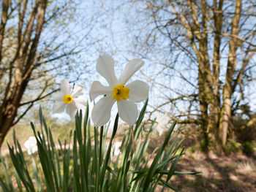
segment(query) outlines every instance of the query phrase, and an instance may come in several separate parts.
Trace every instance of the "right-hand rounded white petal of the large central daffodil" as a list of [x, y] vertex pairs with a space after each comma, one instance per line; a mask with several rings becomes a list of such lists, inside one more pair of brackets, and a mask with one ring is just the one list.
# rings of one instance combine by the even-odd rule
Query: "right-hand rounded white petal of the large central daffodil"
[[135, 80], [126, 87], [129, 88], [130, 101], [140, 102], [148, 98], [149, 86], [146, 82]]

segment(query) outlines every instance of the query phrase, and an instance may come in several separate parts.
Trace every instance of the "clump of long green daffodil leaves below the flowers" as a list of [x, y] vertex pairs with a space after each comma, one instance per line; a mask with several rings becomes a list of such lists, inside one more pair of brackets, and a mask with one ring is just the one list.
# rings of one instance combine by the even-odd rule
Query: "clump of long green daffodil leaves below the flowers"
[[[147, 104], [147, 101], [146, 101]], [[121, 154], [117, 158], [110, 158], [113, 139], [118, 128], [118, 114], [113, 126], [113, 134], [107, 146], [107, 126], [94, 127], [94, 136], [91, 136], [89, 107], [82, 118], [82, 112], [75, 118], [75, 131], [69, 139], [72, 145], [67, 144], [58, 151], [53, 141], [53, 135], [48, 128], [42, 110], [39, 109], [41, 133], [36, 133], [34, 124], [31, 128], [37, 137], [37, 147], [40, 164], [32, 158], [33, 176], [29, 173], [29, 164], [25, 161], [20, 144], [13, 134], [15, 146], [9, 145], [12, 164], [15, 167], [15, 180], [18, 191], [154, 191], [158, 185], [165, 188], [174, 188], [168, 182], [174, 175], [198, 174], [197, 172], [176, 172], [176, 166], [184, 148], [178, 142], [178, 133], [173, 133], [176, 121], [173, 122], [162, 146], [155, 149], [151, 155], [146, 155], [151, 129], [143, 130], [143, 116], [146, 104], [140, 112], [135, 126], [124, 134]], [[42, 135], [41, 135], [42, 134]], [[48, 144], [46, 144], [48, 142]], [[60, 141], [59, 144], [61, 145]], [[168, 146], [167, 146], [168, 145]], [[0, 155], [1, 157], [1, 155]], [[150, 158], [154, 158], [149, 163]], [[17, 190], [7, 172], [7, 166], [1, 157], [5, 179], [0, 178], [2, 191]], [[43, 177], [39, 177], [39, 172]], [[35, 182], [34, 182], [35, 181]]]

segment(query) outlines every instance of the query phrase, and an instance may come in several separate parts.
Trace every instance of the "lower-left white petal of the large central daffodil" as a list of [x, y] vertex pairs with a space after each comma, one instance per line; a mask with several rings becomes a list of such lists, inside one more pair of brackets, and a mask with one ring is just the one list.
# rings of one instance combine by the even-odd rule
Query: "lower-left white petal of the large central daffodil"
[[108, 123], [111, 116], [111, 109], [116, 100], [112, 99], [112, 96], [105, 96], [99, 99], [97, 104], [91, 111], [91, 120], [94, 122], [95, 126], [104, 126]]

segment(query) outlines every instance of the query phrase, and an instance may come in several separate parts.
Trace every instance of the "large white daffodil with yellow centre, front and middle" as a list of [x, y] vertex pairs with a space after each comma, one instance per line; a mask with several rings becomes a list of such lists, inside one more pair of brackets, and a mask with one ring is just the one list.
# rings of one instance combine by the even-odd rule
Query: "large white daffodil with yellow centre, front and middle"
[[91, 120], [95, 126], [103, 126], [110, 120], [111, 109], [117, 101], [118, 114], [124, 122], [130, 126], [134, 124], [138, 117], [138, 109], [135, 102], [140, 102], [148, 97], [148, 84], [135, 80], [126, 85], [130, 77], [138, 72], [144, 61], [135, 58], [125, 66], [124, 72], [119, 80], [114, 72], [114, 61], [108, 55], [99, 56], [96, 70], [107, 81], [109, 86], [102, 85], [99, 81], [94, 81], [90, 89], [90, 99], [93, 101], [99, 95], [104, 95], [91, 112]]

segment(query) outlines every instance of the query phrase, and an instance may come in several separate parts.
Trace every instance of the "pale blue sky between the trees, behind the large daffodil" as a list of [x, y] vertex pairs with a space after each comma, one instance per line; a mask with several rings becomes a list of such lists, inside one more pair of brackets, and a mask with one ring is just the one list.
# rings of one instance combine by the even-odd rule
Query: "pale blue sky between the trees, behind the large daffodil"
[[[174, 91], [184, 91], [185, 88], [187, 89], [188, 93], [193, 92], [192, 87], [189, 87], [189, 85], [182, 82], [178, 74], [174, 73], [171, 79], [165, 78], [165, 73], [168, 73], [168, 71], [162, 71], [162, 67], [160, 67], [160, 65], [156, 65], [161, 63], [167, 64], [170, 62], [168, 59], [172, 59], [170, 58], [171, 56], [167, 56], [169, 53], [168, 41], [164, 41], [164, 44], [159, 45], [162, 46], [162, 49], [158, 49], [158, 45], [151, 47], [152, 52], [147, 53], [146, 56], [143, 54], [140, 55], [140, 48], [142, 51], [141, 53], [143, 53], [143, 47], [136, 47], [133, 49], [136, 41], [135, 33], [138, 33], [139, 31], [143, 34], [145, 33], [144, 29], [148, 27], [146, 22], [148, 15], [143, 12], [144, 8], [144, 4], [140, 4], [140, 6], [138, 6], [138, 4], [132, 4], [127, 1], [96, 0], [83, 1], [83, 3], [77, 7], [77, 12], [75, 14], [76, 22], [75, 24], [69, 24], [69, 28], [72, 29], [72, 31], [75, 31], [75, 37], [78, 39], [83, 37], [83, 35], [88, 32], [88, 28], [93, 26], [89, 36], [86, 37], [86, 39], [83, 39], [83, 42], [80, 42], [82, 47], [86, 47], [86, 45], [90, 42], [94, 42], [94, 45], [91, 45], [88, 47], [88, 49], [84, 50], [80, 54], [80, 65], [89, 65], [86, 67], [86, 69], [84, 69], [84, 74], [80, 77], [80, 80], [78, 80], [78, 83], [84, 85], [86, 88], [86, 99], [89, 100], [89, 87], [91, 82], [94, 80], [100, 80], [101, 82], [105, 83], [105, 85], [107, 85], [105, 80], [95, 71], [97, 58], [99, 55], [105, 54], [113, 55], [113, 58], [116, 61], [117, 77], [119, 77], [121, 74], [127, 61], [131, 60], [132, 58], [143, 58], [143, 60], [146, 62], [145, 66], [143, 66], [141, 69], [143, 73], [138, 72], [138, 74], [133, 77], [133, 80], [150, 80], [151, 78], [154, 78], [156, 82], [173, 88]], [[88, 20], [91, 20], [91, 23], [89, 23]], [[144, 36], [141, 35], [140, 37], [143, 38]], [[151, 59], [149, 60], [147, 58]], [[187, 61], [184, 61], [183, 58], [180, 58], [180, 60], [177, 62], [183, 63]], [[223, 59], [222, 62], [225, 64], [225, 59]], [[181, 69], [182, 67], [184, 66], [179, 65], [177, 69]], [[195, 78], [196, 71], [194, 69], [193, 66], [191, 66], [190, 69], [185, 67], [183, 74]], [[60, 82], [62, 78], [63, 77], [57, 77], [56, 82]], [[67, 78], [69, 80], [73, 80], [75, 78], [75, 74], [70, 74]], [[148, 84], [152, 83], [153, 82], [148, 82]], [[245, 90], [245, 93], [249, 95], [248, 102], [254, 111], [256, 111], [255, 87], [256, 82], [254, 81]], [[165, 97], [175, 96], [177, 95], [173, 91], [163, 91], [162, 87], [154, 84], [154, 88], [151, 88], [149, 102], [151, 104], [157, 105], [162, 101], [165, 101]], [[90, 105], [92, 105], [92, 103]], [[178, 107], [185, 109], [187, 108], [187, 103], [180, 102]], [[171, 109], [170, 106], [167, 106], [165, 107], [165, 110], [170, 111], [173, 109]], [[113, 116], [116, 114], [116, 109], [113, 110], [112, 114]], [[64, 114], [57, 116], [61, 118], [68, 117]]]

